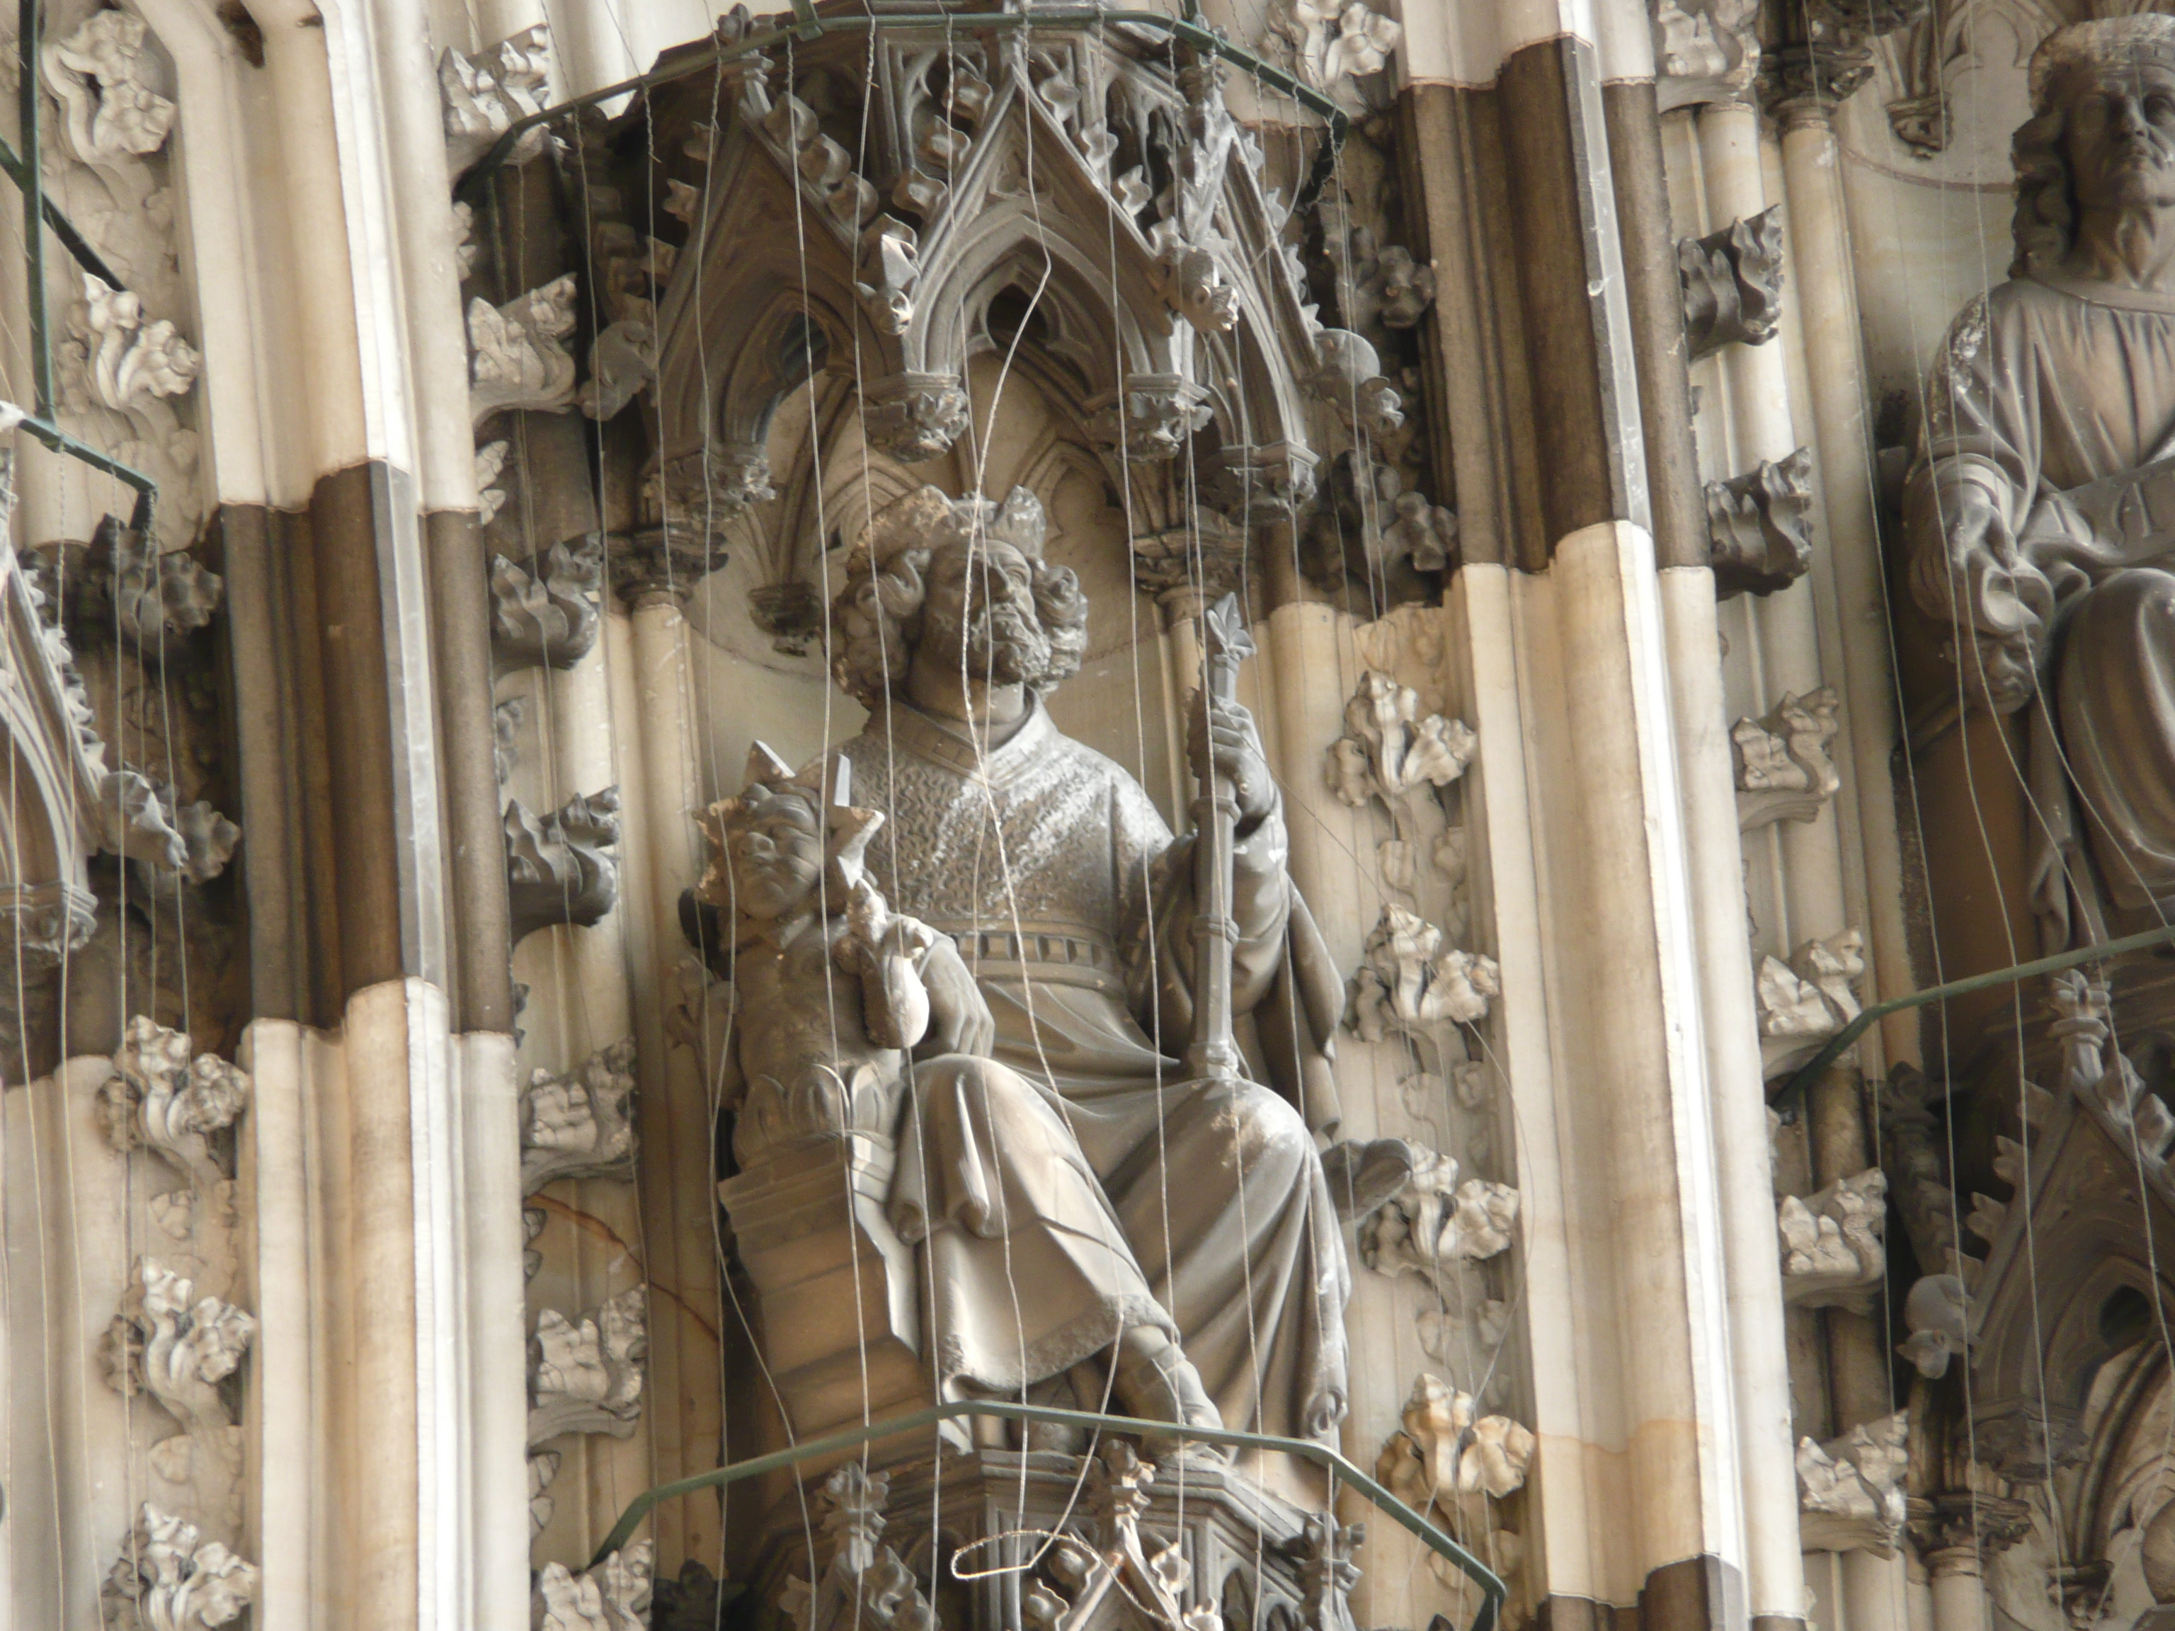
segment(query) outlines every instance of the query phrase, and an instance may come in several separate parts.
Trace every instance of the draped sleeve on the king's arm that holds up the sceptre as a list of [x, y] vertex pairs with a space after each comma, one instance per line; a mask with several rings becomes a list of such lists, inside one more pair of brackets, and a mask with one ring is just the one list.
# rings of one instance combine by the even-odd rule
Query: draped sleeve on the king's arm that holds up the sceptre
[[[1179, 1055], [1194, 1031], [1194, 839], [1172, 839], [1146, 794], [1111, 794], [1111, 833], [1124, 902], [1127, 989], [1142, 1029]], [[1290, 874], [1283, 816], [1233, 844], [1231, 1009], [1253, 1013], [1268, 1085], [1318, 1133], [1342, 1120], [1335, 1026], [1344, 987], [1314, 913]]]

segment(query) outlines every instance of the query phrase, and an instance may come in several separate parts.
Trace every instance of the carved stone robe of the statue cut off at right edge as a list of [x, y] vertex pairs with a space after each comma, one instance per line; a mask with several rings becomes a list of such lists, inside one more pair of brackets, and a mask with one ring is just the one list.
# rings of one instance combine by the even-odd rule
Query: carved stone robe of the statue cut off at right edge
[[[1940, 522], [1964, 485], [1992, 496], [2014, 561], [1947, 561]], [[2175, 296], [2047, 276], [1964, 307], [1907, 518], [1918, 596], [1942, 613], [1953, 596], [1960, 661], [1977, 661], [1977, 628], [1981, 650], [2008, 637], [2036, 668], [2031, 898], [2049, 946], [2103, 937], [2103, 898], [2175, 898]]]

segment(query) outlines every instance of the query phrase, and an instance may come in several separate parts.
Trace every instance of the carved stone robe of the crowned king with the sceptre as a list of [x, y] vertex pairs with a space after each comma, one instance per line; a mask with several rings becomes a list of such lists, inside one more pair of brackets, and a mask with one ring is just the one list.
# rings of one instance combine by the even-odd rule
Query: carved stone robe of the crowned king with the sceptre
[[1281, 820], [1238, 846], [1233, 900], [1235, 1005], [1281, 1092], [1198, 1083], [1151, 1042], [1192, 1024], [1190, 839], [1124, 770], [1040, 702], [985, 765], [903, 702], [840, 752], [890, 818], [879, 887], [955, 937], [996, 1018], [998, 1066], [918, 1063], [900, 1129], [892, 1213], [922, 1240], [946, 1385], [1014, 1392], [1148, 1318], [1227, 1424], [1327, 1433], [1351, 1279], [1309, 1124], [1335, 1124], [1342, 989]]

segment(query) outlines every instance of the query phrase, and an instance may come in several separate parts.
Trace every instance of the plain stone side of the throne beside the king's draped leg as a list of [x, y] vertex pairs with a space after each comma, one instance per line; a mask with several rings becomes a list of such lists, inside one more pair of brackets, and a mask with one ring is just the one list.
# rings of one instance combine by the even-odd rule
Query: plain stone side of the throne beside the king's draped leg
[[796, 1440], [935, 1403], [913, 1248], [883, 1211], [896, 1166], [890, 1137], [840, 1133], [781, 1144], [718, 1185]]

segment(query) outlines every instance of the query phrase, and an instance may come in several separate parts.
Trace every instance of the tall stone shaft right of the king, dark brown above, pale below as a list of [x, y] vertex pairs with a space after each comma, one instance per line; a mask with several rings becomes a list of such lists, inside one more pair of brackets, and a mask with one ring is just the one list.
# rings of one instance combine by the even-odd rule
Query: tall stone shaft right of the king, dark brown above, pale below
[[[1618, 9], [1601, 33], [1620, 52], [1646, 26], [1636, 7]], [[1527, 1590], [1546, 1598], [1551, 1622], [1583, 1611], [1577, 1598], [1636, 1596], [1653, 1624], [1705, 1627], [1742, 1616], [1744, 1568], [1699, 968], [1701, 931], [1718, 933], [1718, 885], [1694, 881], [1679, 802], [1703, 779], [1699, 837], [1707, 855], [1733, 852], [1712, 587], [1690, 491], [1653, 94], [1636, 87], [1651, 63], [1618, 63], [1607, 76], [1620, 83], [1605, 89], [1603, 50], [1542, 28], [1540, 11], [1553, 13], [1505, 9], [1505, 37], [1531, 43], [1507, 50], [1490, 91], [1416, 85], [1405, 124], [1455, 157], [1438, 174], [1420, 148], [1416, 215], [1442, 291], [1429, 402], [1451, 404], [1459, 513], [1481, 518], [1453, 605], [1464, 609], [1466, 696], [1481, 735], [1466, 783], [1475, 902], [1494, 913], [1507, 959], [1507, 1076], [1529, 1133], [1518, 1183], [1531, 1207], [1542, 1451]], [[1636, 167], [1623, 180], [1614, 146]], [[1481, 289], [1459, 287], [1464, 267], [1488, 270]], [[1655, 354], [1653, 381], [1642, 348]], [[1466, 402], [1488, 411], [1466, 418]], [[1538, 481], [1527, 485], [1525, 472]], [[1696, 689], [1679, 683], [1692, 665], [1673, 661], [1673, 646], [1696, 644], [1701, 613], [1664, 613], [1655, 524], [1668, 528], [1662, 559], [1688, 568], [1710, 598]], [[1520, 570], [1496, 583], [1494, 559]], [[1670, 598], [1690, 600], [1690, 583]], [[1679, 765], [1679, 729], [1694, 724], [1696, 755]], [[1520, 842], [1518, 829], [1538, 842]], [[1546, 946], [1544, 972], [1531, 976], [1581, 1013], [1579, 1035], [1525, 1011], [1514, 963], [1527, 913]], [[1736, 924], [1742, 944], [1742, 902]], [[1744, 994], [1736, 1029], [1749, 1009]], [[1742, 1035], [1731, 1039], [1747, 1053]], [[1755, 1083], [1757, 1072], [1757, 1096]], [[1557, 1131], [1540, 1144], [1531, 1133], [1544, 1124]], [[1566, 1368], [1614, 1377], [1612, 1403], [1588, 1414]], [[1596, 1505], [1592, 1479], [1620, 1498]]]

